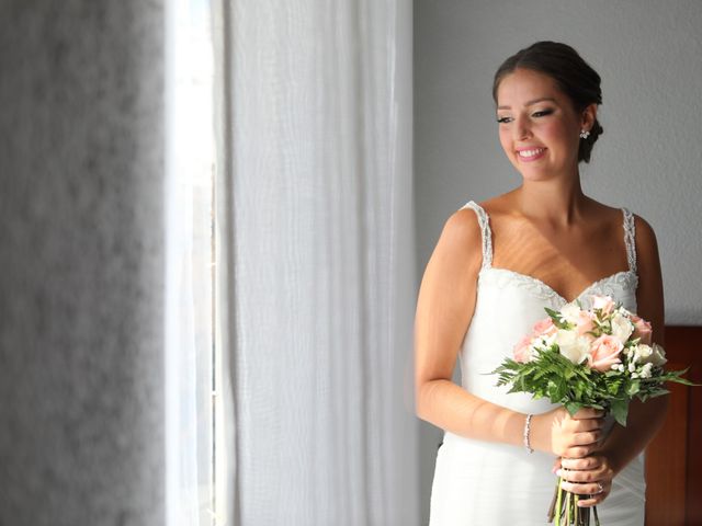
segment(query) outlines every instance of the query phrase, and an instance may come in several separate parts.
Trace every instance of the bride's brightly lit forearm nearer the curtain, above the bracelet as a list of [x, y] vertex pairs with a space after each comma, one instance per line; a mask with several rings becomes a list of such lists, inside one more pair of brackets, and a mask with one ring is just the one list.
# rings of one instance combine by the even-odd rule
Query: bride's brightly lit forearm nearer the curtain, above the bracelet
[[483, 400], [446, 379], [418, 388], [417, 415], [467, 438], [516, 446], [523, 441], [524, 414]]

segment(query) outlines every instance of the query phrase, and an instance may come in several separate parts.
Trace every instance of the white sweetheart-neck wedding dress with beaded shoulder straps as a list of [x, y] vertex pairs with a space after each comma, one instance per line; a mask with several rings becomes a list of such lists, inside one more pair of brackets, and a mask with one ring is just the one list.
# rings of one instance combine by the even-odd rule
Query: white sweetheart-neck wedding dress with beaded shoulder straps
[[[473, 208], [483, 230], [483, 266], [478, 274], [475, 312], [458, 355], [463, 388], [489, 402], [521, 413], [543, 413], [555, 408], [526, 393], [508, 395], [489, 375], [532, 325], [567, 301], [545, 283], [505, 268], [492, 267], [489, 218], [476, 203]], [[634, 220], [623, 211], [629, 270], [607, 276], [585, 289], [578, 299], [589, 306], [590, 295], [609, 295], [636, 312], [636, 252]], [[445, 432], [437, 453], [431, 492], [430, 526], [545, 525], [556, 482], [555, 457], [523, 447], [464, 438]], [[602, 526], [643, 526], [644, 455], [613, 480], [612, 491], [598, 514]], [[593, 522], [591, 524], [595, 524]]]

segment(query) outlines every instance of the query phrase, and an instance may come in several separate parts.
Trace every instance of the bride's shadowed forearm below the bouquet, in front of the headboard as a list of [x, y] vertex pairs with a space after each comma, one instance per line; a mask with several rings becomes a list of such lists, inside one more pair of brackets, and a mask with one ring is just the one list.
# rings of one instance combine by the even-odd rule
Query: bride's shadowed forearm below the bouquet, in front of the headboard
[[608, 458], [614, 473], [645, 449], [663, 425], [668, 410], [668, 397], [658, 397], [642, 403], [630, 404], [626, 427], [614, 424], [600, 451]]

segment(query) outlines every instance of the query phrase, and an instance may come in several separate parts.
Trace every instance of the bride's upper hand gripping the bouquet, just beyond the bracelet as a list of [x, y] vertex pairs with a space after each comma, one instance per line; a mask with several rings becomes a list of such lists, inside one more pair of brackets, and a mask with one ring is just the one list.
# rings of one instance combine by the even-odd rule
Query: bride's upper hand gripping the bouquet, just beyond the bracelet
[[602, 411], [581, 409], [570, 416], [565, 408], [536, 414], [532, 419], [532, 447], [557, 457], [587, 457], [599, 446], [603, 415]]

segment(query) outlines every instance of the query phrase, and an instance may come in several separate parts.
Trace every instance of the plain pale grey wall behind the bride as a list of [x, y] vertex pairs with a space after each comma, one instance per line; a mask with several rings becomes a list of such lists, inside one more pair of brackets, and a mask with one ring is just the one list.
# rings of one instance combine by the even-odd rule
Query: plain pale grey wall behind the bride
[[[519, 184], [497, 138], [491, 81], [505, 58], [541, 39], [570, 44], [602, 77], [604, 134], [581, 169], [585, 192], [650, 222], [661, 255], [666, 321], [702, 323], [697, 0], [415, 0], [418, 268], [423, 271], [455, 209]], [[438, 430], [422, 424], [424, 518], [440, 439]]]

